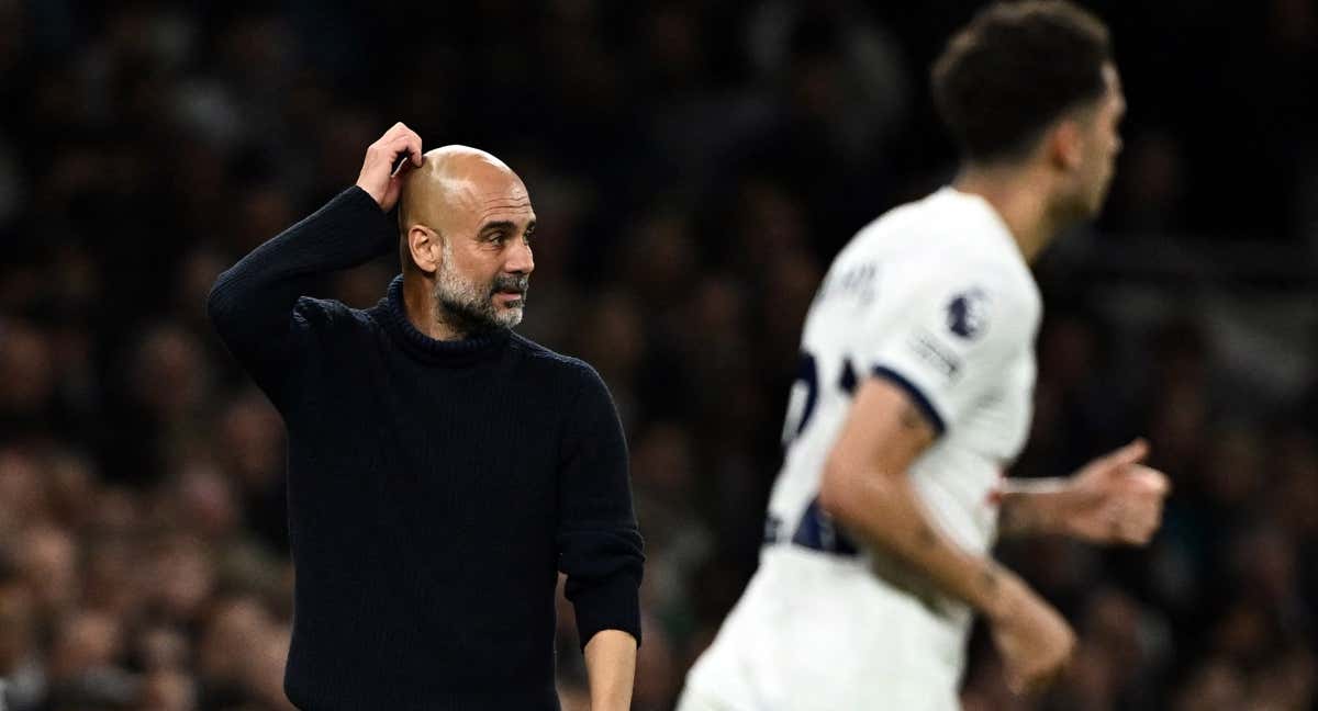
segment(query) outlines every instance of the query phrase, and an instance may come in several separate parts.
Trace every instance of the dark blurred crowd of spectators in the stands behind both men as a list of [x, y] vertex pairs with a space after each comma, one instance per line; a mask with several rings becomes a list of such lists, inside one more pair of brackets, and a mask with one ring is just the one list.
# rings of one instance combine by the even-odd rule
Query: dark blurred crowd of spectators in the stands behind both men
[[[0, 707], [289, 708], [283, 429], [206, 294], [403, 120], [531, 191], [519, 330], [618, 403], [648, 557], [634, 707], [671, 708], [754, 570], [822, 269], [954, 169], [924, 67], [975, 4], [874, 5], [0, 0]], [[1093, 7], [1131, 113], [1110, 209], [1075, 238], [1318, 246], [1314, 5]], [[395, 273], [319, 295], [370, 305]], [[1131, 319], [1098, 279], [1040, 278], [1014, 473], [1143, 433], [1176, 490], [1144, 550], [1002, 544], [1081, 648], [1027, 703], [977, 635], [966, 707], [1313, 708], [1318, 398], [1255, 387], [1203, 309]]]

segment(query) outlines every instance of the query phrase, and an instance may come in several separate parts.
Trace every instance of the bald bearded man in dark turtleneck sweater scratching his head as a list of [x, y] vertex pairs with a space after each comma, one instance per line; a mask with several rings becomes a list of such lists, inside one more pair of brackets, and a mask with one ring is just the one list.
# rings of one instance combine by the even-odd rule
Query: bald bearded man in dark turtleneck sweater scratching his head
[[[423, 154], [397, 124], [355, 187], [211, 291], [287, 427], [299, 708], [559, 708], [559, 571], [592, 708], [630, 704], [643, 557], [626, 444], [589, 365], [510, 330], [534, 229], [502, 161]], [[374, 307], [306, 296], [393, 249], [402, 274]]]

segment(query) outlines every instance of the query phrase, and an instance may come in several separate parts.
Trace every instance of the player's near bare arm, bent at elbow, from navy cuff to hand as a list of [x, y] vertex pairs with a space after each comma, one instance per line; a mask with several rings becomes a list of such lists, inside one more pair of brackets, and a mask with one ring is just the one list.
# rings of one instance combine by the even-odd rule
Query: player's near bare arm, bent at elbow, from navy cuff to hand
[[1069, 658], [1074, 635], [1020, 578], [960, 548], [924, 512], [907, 470], [934, 436], [904, 388], [870, 378], [857, 391], [829, 454], [820, 506], [850, 535], [905, 561], [982, 612], [1008, 682], [1017, 691], [1033, 690]]

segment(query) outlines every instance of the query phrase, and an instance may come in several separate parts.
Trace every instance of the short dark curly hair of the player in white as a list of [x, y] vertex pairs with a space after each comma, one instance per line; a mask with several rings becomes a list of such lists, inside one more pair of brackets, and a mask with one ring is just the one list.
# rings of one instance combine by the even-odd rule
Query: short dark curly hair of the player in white
[[994, 3], [952, 37], [931, 72], [962, 154], [1017, 158], [1068, 109], [1103, 95], [1107, 28], [1065, 0]]

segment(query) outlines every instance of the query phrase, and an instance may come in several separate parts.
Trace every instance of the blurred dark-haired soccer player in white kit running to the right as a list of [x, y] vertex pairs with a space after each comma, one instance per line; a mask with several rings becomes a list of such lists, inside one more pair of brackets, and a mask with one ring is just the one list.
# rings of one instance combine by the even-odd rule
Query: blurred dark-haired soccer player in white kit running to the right
[[1072, 477], [1003, 479], [1024, 445], [1040, 296], [1029, 262], [1103, 204], [1124, 111], [1103, 24], [995, 4], [933, 66], [950, 187], [838, 254], [811, 305], [760, 566], [680, 711], [957, 708], [985, 615], [1010, 686], [1075, 644], [990, 557], [995, 535], [1143, 544], [1166, 481], [1135, 441]]

